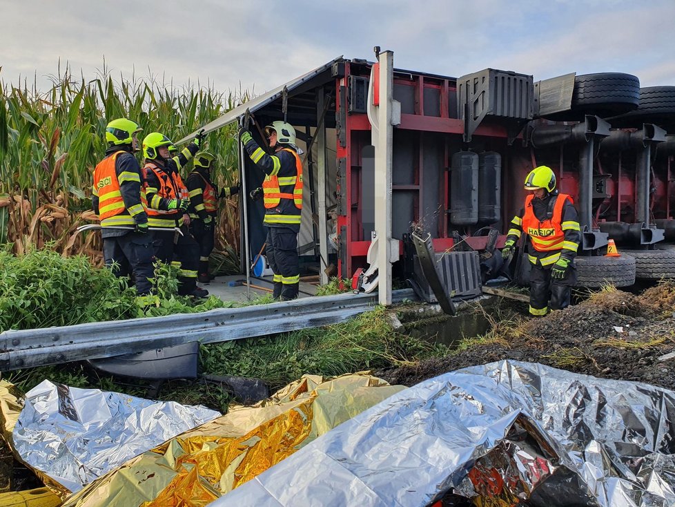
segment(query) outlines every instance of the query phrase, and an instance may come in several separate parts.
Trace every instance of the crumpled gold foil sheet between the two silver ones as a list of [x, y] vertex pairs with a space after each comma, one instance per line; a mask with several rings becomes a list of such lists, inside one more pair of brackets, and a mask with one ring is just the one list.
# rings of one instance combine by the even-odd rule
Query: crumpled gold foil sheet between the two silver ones
[[400, 390], [367, 374], [303, 376], [127, 461], [63, 507], [206, 506]]

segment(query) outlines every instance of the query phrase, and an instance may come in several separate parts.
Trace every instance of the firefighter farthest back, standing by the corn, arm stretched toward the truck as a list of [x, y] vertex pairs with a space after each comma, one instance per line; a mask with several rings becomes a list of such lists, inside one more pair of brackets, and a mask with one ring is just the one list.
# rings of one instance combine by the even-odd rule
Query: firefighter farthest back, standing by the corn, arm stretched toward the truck
[[197, 280], [208, 283], [212, 277], [208, 274], [208, 256], [215, 242], [215, 218], [218, 211], [218, 199], [239, 193], [239, 185], [218, 187], [211, 181], [211, 169], [215, 157], [202, 151], [195, 155], [195, 169], [188, 175], [186, 184], [190, 195], [190, 232], [199, 243], [199, 274]]

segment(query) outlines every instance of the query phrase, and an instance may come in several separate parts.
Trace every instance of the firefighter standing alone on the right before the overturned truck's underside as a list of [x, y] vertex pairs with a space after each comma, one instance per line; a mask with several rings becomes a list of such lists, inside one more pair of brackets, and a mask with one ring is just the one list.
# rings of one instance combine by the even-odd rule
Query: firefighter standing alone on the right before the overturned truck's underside
[[531, 263], [529, 313], [544, 316], [551, 309], [569, 305], [576, 285], [574, 258], [581, 242], [576, 209], [569, 195], [556, 190], [556, 175], [538, 166], [525, 178], [525, 209], [511, 220], [502, 256], [513, 255], [521, 232], [527, 235], [527, 258]]

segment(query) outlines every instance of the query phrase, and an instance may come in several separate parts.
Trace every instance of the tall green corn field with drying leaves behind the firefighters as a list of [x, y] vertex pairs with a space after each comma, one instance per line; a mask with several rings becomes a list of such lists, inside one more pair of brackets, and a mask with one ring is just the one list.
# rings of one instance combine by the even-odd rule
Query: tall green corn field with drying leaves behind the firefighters
[[[75, 229], [96, 221], [90, 189], [107, 147], [106, 124], [128, 117], [144, 129], [141, 136], [160, 131], [178, 140], [229, 111], [237, 97], [213, 87], [113, 79], [105, 67], [90, 81], [75, 79], [68, 68], [63, 75], [59, 70], [52, 83], [45, 92], [26, 82], [5, 84], [0, 76], [0, 245], [11, 244], [14, 254], [50, 247], [63, 255], [85, 254], [100, 265], [100, 234]], [[233, 128], [209, 134], [207, 149], [218, 161], [213, 180], [220, 186], [235, 183]], [[238, 198], [221, 204], [214, 252], [224, 265], [238, 265], [238, 206]]]

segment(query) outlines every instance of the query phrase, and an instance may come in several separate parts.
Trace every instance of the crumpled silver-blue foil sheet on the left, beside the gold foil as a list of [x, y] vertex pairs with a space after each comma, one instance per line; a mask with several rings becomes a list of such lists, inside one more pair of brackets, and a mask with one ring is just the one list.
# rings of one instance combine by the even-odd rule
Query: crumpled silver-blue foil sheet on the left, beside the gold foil
[[117, 392], [43, 381], [26, 393], [14, 425], [15, 452], [46, 475], [48, 486], [75, 492], [128, 459], [219, 417], [202, 406], [150, 401]]

